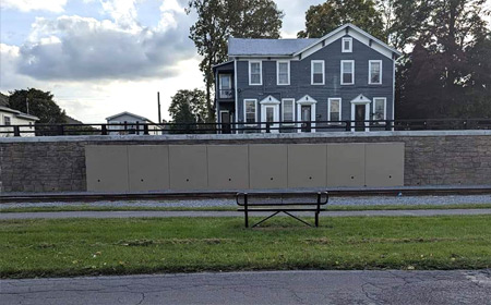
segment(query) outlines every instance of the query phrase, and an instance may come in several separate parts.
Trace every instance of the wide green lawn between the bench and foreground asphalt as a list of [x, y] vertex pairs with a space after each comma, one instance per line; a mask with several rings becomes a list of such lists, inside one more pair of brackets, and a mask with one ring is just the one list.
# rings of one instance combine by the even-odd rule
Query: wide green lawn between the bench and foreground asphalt
[[491, 216], [0, 221], [2, 278], [288, 269], [491, 267]]

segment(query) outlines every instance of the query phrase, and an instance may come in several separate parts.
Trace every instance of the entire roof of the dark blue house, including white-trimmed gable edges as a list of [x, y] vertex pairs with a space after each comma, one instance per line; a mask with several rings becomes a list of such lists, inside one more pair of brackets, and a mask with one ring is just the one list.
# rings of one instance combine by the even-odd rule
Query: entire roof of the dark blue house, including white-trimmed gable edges
[[[354, 24], [345, 24], [334, 29], [333, 32], [326, 34], [321, 38], [299, 38], [299, 39], [249, 39], [249, 38], [230, 38], [228, 41], [228, 56], [229, 57], [291, 57], [299, 56], [309, 49], [314, 48], [319, 44], [325, 42], [328, 38], [332, 38], [342, 30], [354, 30], [366, 38], [380, 45], [382, 48], [387, 49], [391, 52], [400, 56], [402, 53], [378, 39], [376, 37], [370, 35], [363, 29], [359, 28]], [[331, 44], [332, 41], [327, 42]]]

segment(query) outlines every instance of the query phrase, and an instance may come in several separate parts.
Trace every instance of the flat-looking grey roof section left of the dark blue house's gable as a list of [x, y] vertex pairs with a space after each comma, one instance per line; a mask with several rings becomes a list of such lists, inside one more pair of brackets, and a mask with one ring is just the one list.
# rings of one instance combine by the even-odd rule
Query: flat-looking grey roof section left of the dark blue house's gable
[[314, 41], [318, 41], [318, 39], [230, 38], [228, 40], [228, 56], [292, 56]]

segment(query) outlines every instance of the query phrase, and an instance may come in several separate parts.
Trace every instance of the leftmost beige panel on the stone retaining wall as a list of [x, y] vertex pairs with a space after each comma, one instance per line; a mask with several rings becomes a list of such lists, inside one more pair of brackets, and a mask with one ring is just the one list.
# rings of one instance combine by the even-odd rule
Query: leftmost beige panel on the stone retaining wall
[[127, 146], [86, 146], [88, 192], [128, 192]]

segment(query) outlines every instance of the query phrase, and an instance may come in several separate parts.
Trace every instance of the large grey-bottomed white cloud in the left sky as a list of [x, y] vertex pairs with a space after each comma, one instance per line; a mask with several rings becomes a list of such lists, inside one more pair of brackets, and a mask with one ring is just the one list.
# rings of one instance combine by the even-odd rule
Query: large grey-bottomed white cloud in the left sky
[[177, 1], [166, 0], [159, 25], [142, 26], [134, 2], [105, 1], [112, 20], [36, 19], [20, 48], [19, 72], [55, 81], [176, 76], [177, 63], [196, 56], [188, 38], [192, 20]]

